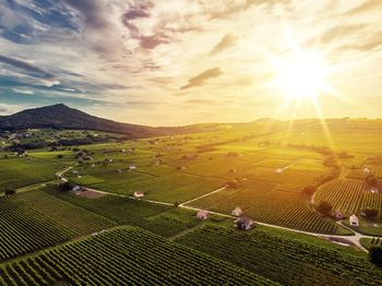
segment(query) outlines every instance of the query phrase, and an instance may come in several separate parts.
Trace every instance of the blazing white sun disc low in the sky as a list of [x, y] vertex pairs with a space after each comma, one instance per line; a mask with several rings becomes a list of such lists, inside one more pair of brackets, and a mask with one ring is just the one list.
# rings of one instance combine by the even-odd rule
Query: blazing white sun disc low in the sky
[[313, 52], [299, 52], [289, 60], [276, 61], [274, 84], [282, 90], [287, 99], [315, 99], [329, 90], [327, 67], [322, 58]]

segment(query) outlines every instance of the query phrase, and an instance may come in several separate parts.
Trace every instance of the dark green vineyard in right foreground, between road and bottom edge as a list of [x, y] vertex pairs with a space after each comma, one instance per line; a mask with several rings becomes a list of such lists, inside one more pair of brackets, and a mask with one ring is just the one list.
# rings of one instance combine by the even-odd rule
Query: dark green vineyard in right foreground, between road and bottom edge
[[283, 285], [380, 285], [382, 279], [366, 257], [286, 231], [205, 225], [176, 241]]

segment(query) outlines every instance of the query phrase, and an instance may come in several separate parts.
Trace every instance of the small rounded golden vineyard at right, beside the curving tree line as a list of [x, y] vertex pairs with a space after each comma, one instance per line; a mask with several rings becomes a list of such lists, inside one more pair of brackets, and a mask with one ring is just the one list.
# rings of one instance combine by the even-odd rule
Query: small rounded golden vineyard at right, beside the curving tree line
[[334, 210], [346, 215], [357, 214], [363, 203], [365, 181], [336, 179], [323, 184], [314, 196], [315, 202], [327, 201]]

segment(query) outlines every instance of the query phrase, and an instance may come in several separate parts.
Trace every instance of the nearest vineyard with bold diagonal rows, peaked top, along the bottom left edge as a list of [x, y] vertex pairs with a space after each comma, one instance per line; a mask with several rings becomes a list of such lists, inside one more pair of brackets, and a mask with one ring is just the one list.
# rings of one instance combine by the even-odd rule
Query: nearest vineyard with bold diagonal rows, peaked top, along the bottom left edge
[[117, 228], [1, 266], [0, 285], [275, 285], [139, 228]]

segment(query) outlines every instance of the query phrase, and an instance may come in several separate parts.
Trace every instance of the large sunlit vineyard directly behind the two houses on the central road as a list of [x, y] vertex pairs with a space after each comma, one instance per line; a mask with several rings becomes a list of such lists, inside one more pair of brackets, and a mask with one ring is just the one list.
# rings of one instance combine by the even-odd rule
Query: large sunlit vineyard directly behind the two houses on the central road
[[192, 206], [230, 214], [240, 206], [255, 221], [307, 231], [343, 231], [331, 219], [312, 211], [307, 199], [297, 192], [274, 190], [275, 184], [258, 182], [250, 188], [227, 189], [191, 203]]

